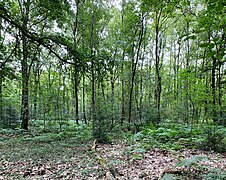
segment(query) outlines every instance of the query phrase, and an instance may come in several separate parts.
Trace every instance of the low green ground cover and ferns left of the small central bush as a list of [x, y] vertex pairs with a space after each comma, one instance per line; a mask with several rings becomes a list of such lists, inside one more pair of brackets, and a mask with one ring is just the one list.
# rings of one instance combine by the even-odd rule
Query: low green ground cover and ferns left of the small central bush
[[24, 130], [0, 130], [0, 161], [21, 161], [60, 159], [73, 154], [73, 147], [86, 146], [92, 139], [91, 127], [88, 125], [73, 125], [67, 129], [31, 128]]

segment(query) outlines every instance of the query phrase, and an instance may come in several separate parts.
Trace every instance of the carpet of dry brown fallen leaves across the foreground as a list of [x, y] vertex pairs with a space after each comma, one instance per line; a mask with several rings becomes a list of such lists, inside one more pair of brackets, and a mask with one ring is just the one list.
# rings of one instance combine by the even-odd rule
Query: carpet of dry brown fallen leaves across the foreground
[[[91, 144], [91, 142], [90, 142]], [[91, 145], [90, 145], [91, 146]], [[226, 170], [226, 155], [199, 150], [166, 151], [149, 149], [145, 152], [128, 150], [129, 145], [121, 142], [114, 145], [98, 144], [96, 151], [107, 164], [102, 167], [95, 153], [86, 148], [71, 148], [56, 159], [45, 161], [7, 161], [1, 159], [0, 179], [160, 179], [164, 174], [180, 174], [189, 171], [186, 167], [175, 165], [182, 159], [205, 156], [204, 171], [211, 168]], [[22, 150], [22, 149], [21, 149]], [[0, 149], [1, 153], [1, 149]], [[53, 151], [54, 153], [54, 151]], [[41, 158], [41, 157], [40, 157]], [[191, 169], [190, 169], [191, 171]], [[200, 172], [197, 172], [200, 173]]]

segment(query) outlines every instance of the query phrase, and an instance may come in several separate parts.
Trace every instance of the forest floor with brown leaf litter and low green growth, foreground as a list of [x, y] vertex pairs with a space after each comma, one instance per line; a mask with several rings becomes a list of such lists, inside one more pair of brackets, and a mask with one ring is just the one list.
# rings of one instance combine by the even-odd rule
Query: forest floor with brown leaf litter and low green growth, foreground
[[126, 140], [95, 144], [51, 134], [1, 133], [0, 179], [226, 178], [226, 153], [143, 149]]

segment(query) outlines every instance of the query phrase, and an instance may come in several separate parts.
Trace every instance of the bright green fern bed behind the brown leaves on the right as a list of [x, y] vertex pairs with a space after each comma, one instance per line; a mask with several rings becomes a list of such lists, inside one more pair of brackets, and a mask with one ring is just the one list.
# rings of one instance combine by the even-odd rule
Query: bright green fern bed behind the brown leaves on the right
[[140, 142], [145, 148], [180, 150], [195, 148], [226, 152], [226, 128], [223, 126], [190, 126], [159, 124], [146, 126], [130, 137], [130, 142]]

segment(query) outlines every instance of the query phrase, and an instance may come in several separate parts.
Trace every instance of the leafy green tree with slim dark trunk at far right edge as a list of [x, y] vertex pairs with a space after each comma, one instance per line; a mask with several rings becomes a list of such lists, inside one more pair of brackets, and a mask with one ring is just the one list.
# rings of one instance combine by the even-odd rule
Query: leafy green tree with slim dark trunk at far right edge
[[[221, 79], [223, 72], [222, 65], [224, 60], [225, 48], [225, 18], [224, 4], [207, 0], [205, 9], [200, 12], [199, 26], [202, 27], [199, 33], [205, 34], [204, 43], [200, 44], [201, 48], [205, 48], [205, 58], [211, 60], [211, 91], [212, 91], [212, 117], [216, 123], [218, 114], [221, 113]], [[218, 72], [217, 72], [218, 71]], [[217, 77], [218, 73], [218, 77]], [[218, 79], [217, 79], [218, 78]], [[218, 81], [218, 85], [217, 85]], [[218, 88], [218, 90], [217, 90]], [[218, 91], [218, 96], [217, 96]], [[217, 100], [218, 99], [218, 100]]]

